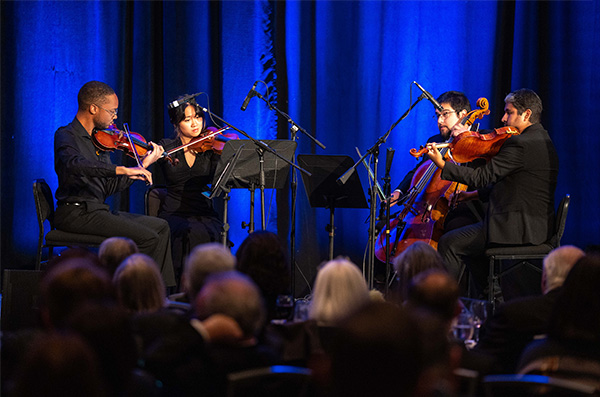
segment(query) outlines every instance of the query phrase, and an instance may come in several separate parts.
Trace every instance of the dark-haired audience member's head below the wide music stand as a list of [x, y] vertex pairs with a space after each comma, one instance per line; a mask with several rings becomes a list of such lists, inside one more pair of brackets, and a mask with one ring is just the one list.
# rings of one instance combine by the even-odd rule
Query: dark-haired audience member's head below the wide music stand
[[236, 258], [237, 270], [250, 276], [260, 289], [267, 320], [291, 315], [277, 308], [278, 297], [290, 293], [290, 266], [279, 237], [265, 230], [253, 232], [238, 248]]

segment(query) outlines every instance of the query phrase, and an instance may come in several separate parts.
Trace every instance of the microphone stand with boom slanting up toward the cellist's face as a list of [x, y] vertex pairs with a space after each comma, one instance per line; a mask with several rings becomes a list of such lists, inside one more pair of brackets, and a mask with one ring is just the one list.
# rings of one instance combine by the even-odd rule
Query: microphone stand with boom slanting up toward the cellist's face
[[[375, 177], [377, 177], [377, 168], [378, 168], [378, 163], [379, 163], [379, 147], [385, 143], [385, 141], [387, 140], [388, 136], [390, 135], [390, 133], [392, 132], [392, 130], [398, 125], [398, 123], [400, 123], [402, 120], [404, 120], [406, 118], [406, 116], [408, 116], [408, 114], [410, 113], [410, 111], [417, 105], [417, 103], [419, 103], [422, 99], [425, 99], [426, 96], [425, 94], [421, 94], [417, 100], [410, 105], [410, 107], [406, 110], [406, 112], [404, 112], [404, 114], [402, 116], [400, 116], [400, 118], [394, 123], [392, 124], [392, 126], [390, 127], [390, 129], [381, 137], [379, 137], [379, 139], [377, 139], [377, 142], [375, 142], [375, 144], [373, 146], [371, 146], [366, 152], [365, 154], [362, 155], [362, 157], [360, 159], [358, 159], [358, 161], [348, 169], [348, 171], [346, 171], [346, 173], [344, 173], [344, 175], [342, 175], [341, 177], [339, 177], [337, 179], [337, 183], [339, 185], [343, 185], [345, 184], [348, 179], [350, 179], [350, 176], [352, 175], [352, 173], [354, 173], [354, 171], [356, 170], [356, 167], [365, 159], [367, 158], [367, 156], [369, 155], [373, 155], [374, 158], [374, 165], [373, 165], [373, 174]], [[374, 272], [375, 272], [375, 239], [377, 236], [375, 236], [375, 210], [376, 210], [376, 206], [375, 206], [375, 202], [377, 200], [377, 193], [375, 189], [371, 189], [370, 192], [370, 216], [369, 216], [369, 257], [367, 258], [367, 266], [365, 269], [365, 266], [363, 265], [363, 275], [365, 276], [365, 279], [367, 281], [367, 285], [369, 286], [369, 289], [373, 288], [373, 278], [374, 278]]]

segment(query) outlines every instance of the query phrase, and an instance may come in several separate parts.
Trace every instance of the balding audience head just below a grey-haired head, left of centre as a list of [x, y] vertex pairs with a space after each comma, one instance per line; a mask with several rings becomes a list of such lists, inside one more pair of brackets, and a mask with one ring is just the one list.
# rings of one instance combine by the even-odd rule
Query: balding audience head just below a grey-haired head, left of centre
[[210, 275], [194, 302], [199, 319], [225, 314], [238, 323], [246, 337], [256, 336], [265, 323], [260, 290], [250, 277], [235, 270]]

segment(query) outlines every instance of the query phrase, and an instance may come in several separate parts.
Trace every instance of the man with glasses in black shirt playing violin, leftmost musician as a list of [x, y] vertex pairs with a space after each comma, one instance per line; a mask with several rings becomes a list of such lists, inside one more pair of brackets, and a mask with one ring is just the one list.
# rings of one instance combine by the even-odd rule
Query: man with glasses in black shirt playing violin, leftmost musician
[[159, 264], [165, 284], [174, 286], [168, 223], [160, 218], [111, 211], [105, 204], [110, 195], [127, 189], [135, 180], [152, 183], [152, 174], [145, 167], [162, 155], [162, 147], [150, 143], [152, 150], [144, 157], [141, 167], [112, 164], [110, 154], [94, 146], [92, 134], [94, 130], [108, 128], [117, 118], [117, 95], [107, 84], [90, 81], [79, 90], [77, 102], [75, 119], [54, 135], [57, 229], [128, 237], [140, 252]]

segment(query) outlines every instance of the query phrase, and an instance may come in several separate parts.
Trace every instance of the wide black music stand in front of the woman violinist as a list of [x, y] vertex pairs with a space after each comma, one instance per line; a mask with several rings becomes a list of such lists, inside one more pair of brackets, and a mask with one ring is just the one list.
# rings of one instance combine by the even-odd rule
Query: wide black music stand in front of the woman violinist
[[[291, 160], [296, 150], [297, 142], [277, 139], [261, 140], [264, 144], [274, 149], [279, 155]], [[225, 143], [221, 161], [217, 164], [215, 176], [226, 171], [228, 159], [240, 151], [231, 176], [225, 181], [229, 188], [250, 190], [250, 223], [242, 223], [242, 227], [248, 226], [248, 233], [254, 231], [254, 191], [258, 187], [261, 192], [261, 226], [265, 229], [265, 188], [282, 189], [289, 182], [290, 165], [274, 154], [264, 151], [248, 139], [235, 139]], [[216, 182], [216, 180], [215, 180]]]

